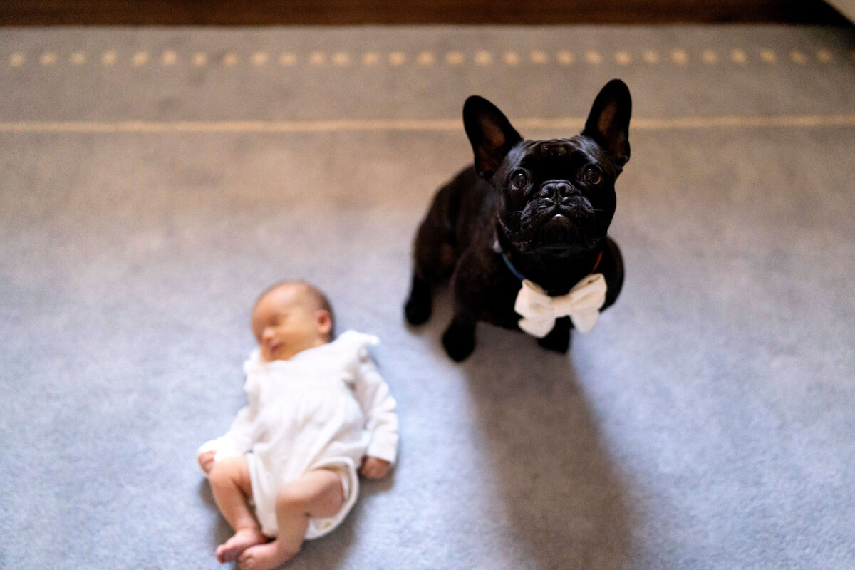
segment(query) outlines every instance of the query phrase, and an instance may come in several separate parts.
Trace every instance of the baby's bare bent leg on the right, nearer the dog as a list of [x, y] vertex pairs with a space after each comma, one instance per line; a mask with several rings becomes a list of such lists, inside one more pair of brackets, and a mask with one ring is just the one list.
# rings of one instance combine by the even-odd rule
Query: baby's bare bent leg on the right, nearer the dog
[[241, 570], [268, 570], [290, 560], [303, 545], [310, 517], [331, 517], [344, 504], [339, 473], [329, 469], [315, 469], [283, 485], [276, 497], [276, 539], [245, 549], [238, 559]]

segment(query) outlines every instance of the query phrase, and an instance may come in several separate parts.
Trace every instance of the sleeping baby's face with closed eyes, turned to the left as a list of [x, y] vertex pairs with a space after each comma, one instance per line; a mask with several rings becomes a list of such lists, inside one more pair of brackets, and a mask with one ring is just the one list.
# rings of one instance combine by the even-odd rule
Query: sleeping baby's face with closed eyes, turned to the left
[[329, 314], [318, 309], [300, 285], [282, 285], [252, 309], [252, 332], [262, 359], [288, 360], [302, 350], [327, 344]]

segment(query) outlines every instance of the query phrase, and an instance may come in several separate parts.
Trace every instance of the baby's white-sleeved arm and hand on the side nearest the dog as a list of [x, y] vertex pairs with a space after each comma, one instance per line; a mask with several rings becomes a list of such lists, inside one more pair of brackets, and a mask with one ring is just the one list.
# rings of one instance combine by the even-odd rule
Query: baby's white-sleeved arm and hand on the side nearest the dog
[[367, 350], [360, 355], [354, 391], [365, 413], [365, 428], [371, 432], [362, 472], [367, 477], [380, 478], [388, 473], [398, 455], [398, 415], [389, 385]]

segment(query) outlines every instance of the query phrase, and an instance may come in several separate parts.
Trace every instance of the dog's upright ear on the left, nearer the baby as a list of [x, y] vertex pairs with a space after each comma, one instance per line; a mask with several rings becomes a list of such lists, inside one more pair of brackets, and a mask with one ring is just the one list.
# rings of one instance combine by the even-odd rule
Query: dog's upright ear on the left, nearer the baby
[[475, 152], [475, 170], [489, 179], [510, 149], [522, 140], [498, 107], [473, 95], [463, 104], [463, 126]]

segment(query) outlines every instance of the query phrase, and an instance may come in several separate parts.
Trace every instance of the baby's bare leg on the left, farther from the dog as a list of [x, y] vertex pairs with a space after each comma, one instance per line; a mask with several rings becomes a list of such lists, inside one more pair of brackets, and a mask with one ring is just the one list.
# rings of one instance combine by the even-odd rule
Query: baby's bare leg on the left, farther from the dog
[[234, 536], [216, 549], [221, 562], [233, 562], [245, 549], [264, 544], [268, 538], [262, 534], [258, 521], [252, 515], [247, 499], [252, 497], [250, 469], [245, 457], [229, 457], [217, 461], [208, 475], [214, 500], [223, 518], [234, 529]]

